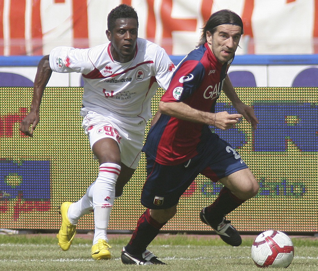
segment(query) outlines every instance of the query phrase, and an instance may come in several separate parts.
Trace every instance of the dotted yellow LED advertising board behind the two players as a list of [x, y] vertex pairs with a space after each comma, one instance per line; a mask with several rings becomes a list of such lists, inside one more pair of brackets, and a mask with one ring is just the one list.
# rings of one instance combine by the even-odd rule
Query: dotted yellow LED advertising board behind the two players
[[[79, 115], [82, 91], [46, 88], [40, 123], [28, 138], [18, 127], [29, 110], [32, 88], [0, 88], [0, 228], [58, 229], [61, 202], [78, 200], [95, 180], [98, 163]], [[252, 130], [243, 119], [233, 129], [212, 132], [239, 152], [260, 190], [227, 218], [239, 231], [317, 231], [318, 89], [255, 87], [238, 88], [237, 93], [254, 108], [258, 129]], [[159, 89], [153, 113], [161, 95]], [[235, 109], [222, 94], [217, 111], [234, 113]], [[110, 230], [135, 228], [145, 210], [139, 201], [145, 178], [142, 156], [124, 195], [115, 202]], [[215, 200], [221, 187], [199, 175], [163, 230], [209, 230], [199, 212]], [[93, 229], [93, 216], [80, 219], [78, 228]]]

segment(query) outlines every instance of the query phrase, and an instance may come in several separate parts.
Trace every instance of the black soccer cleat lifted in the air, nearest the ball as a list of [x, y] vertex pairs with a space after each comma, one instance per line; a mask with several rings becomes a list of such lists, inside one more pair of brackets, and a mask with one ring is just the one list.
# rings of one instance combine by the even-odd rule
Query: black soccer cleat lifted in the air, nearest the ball
[[200, 219], [203, 223], [209, 225], [226, 244], [229, 244], [233, 247], [238, 247], [240, 244], [242, 244], [242, 238], [239, 235], [239, 232], [230, 224], [230, 220], [223, 218], [220, 224], [213, 225], [212, 221], [208, 221], [206, 219], [204, 209], [205, 208], [203, 208], [200, 212]]

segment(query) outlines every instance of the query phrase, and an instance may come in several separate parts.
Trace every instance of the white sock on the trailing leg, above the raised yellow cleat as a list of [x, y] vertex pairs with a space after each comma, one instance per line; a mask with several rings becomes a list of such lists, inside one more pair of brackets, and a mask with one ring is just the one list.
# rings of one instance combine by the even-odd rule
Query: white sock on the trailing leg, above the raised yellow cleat
[[94, 183], [88, 186], [85, 195], [77, 202], [73, 202], [67, 211], [67, 217], [70, 223], [76, 225], [79, 219], [86, 214], [93, 212], [93, 199], [92, 191], [94, 189]]

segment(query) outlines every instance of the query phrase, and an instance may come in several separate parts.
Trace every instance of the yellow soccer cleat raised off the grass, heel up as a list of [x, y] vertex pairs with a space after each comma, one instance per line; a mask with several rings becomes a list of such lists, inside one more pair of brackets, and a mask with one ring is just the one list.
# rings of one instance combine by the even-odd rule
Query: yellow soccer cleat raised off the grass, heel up
[[72, 225], [67, 217], [67, 210], [72, 202], [63, 202], [60, 206], [59, 213], [62, 215], [62, 225], [56, 237], [59, 239], [59, 246], [66, 251], [70, 248], [74, 235], [76, 233], [76, 225]]

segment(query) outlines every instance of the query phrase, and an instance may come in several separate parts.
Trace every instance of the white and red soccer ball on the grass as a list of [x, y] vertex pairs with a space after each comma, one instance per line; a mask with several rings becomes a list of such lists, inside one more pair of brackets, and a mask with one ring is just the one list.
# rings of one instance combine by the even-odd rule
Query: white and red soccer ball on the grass
[[252, 245], [252, 259], [258, 267], [288, 267], [294, 258], [294, 246], [280, 231], [260, 233]]

